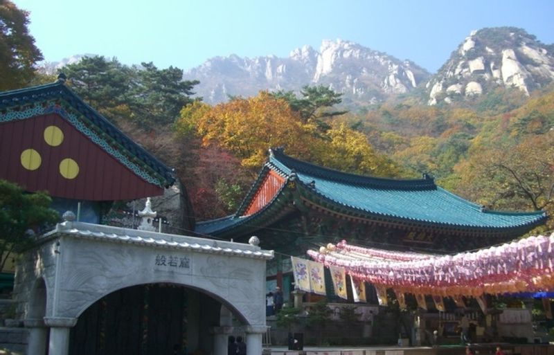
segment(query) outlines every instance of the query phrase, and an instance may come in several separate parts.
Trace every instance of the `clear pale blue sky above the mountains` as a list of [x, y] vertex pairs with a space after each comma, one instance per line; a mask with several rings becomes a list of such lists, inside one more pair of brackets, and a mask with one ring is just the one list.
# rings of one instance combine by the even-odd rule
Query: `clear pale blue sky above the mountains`
[[12, 0], [44, 59], [76, 54], [185, 71], [215, 56], [287, 57], [357, 42], [436, 72], [472, 30], [524, 28], [554, 43], [554, 0]]

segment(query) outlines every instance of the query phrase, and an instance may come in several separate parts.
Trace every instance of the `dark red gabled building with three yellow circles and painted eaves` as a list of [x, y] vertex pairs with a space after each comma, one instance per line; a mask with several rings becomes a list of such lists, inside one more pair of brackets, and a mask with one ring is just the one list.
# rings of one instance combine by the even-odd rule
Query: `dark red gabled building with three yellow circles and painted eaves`
[[172, 169], [56, 82], [0, 93], [0, 179], [47, 191], [65, 212], [98, 223], [109, 203], [163, 194]]

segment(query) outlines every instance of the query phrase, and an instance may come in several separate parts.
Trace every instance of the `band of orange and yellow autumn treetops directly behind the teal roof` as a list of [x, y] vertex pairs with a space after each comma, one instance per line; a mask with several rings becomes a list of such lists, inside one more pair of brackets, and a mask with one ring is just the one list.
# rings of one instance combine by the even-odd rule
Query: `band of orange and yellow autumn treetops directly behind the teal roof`
[[242, 166], [258, 170], [270, 147], [305, 161], [337, 170], [395, 176], [396, 165], [371, 147], [364, 134], [335, 118], [321, 131], [316, 123], [303, 121], [289, 103], [266, 91], [251, 98], [210, 107], [195, 102], [181, 111], [177, 129], [197, 134], [204, 145], [217, 144], [241, 159]]

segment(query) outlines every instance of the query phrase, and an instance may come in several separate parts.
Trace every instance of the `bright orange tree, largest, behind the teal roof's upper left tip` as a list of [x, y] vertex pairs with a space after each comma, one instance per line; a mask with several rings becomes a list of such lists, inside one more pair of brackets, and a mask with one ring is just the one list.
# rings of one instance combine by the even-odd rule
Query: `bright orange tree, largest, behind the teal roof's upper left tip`
[[177, 126], [189, 127], [191, 120], [195, 120], [204, 145], [216, 143], [228, 149], [247, 168], [260, 168], [269, 147], [285, 147], [296, 156], [312, 155], [314, 125], [302, 122], [285, 100], [265, 91], [251, 98], [234, 98], [209, 110], [196, 104], [181, 111]]

